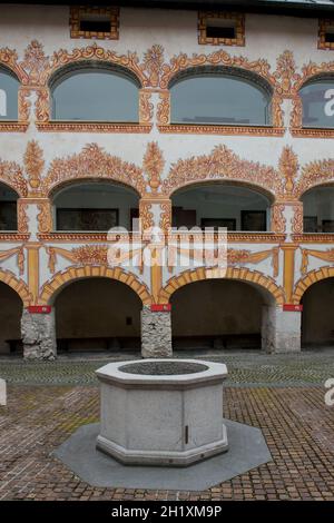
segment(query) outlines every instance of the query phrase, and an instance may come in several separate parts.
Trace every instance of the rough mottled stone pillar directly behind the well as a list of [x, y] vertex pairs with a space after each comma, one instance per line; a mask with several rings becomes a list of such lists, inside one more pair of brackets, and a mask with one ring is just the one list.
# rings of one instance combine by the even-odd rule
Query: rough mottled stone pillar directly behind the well
[[144, 306], [141, 310], [141, 356], [170, 357], [171, 354], [170, 310], [156, 312]]

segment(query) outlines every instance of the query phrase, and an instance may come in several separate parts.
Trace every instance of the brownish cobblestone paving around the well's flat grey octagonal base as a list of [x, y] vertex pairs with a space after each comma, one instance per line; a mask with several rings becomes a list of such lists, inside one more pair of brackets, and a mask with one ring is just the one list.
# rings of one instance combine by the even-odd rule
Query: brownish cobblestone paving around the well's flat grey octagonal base
[[205, 492], [96, 489], [50, 453], [98, 420], [98, 387], [10, 385], [0, 500], [334, 500], [334, 416], [323, 387], [227, 387], [225, 398], [226, 417], [263, 430], [273, 462]]

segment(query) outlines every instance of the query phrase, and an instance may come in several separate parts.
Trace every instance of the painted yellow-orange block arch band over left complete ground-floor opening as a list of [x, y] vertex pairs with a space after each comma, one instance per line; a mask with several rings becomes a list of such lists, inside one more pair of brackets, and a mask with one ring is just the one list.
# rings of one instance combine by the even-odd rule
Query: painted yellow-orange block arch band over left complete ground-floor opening
[[43, 305], [55, 300], [57, 294], [68, 284], [84, 278], [102, 277], [116, 279], [128, 285], [141, 299], [143, 305], [151, 304], [151, 295], [147, 286], [140, 282], [136, 275], [126, 273], [121, 267], [106, 267], [82, 265], [80, 267], [69, 267], [57, 273], [53, 278], [47, 282], [40, 294], [39, 302]]

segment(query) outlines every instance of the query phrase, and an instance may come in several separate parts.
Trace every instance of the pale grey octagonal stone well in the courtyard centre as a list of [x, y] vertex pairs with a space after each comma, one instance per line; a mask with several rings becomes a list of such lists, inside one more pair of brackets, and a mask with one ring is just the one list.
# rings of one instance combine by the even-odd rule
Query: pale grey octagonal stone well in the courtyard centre
[[110, 363], [97, 371], [97, 448], [124, 464], [187, 466], [227, 451], [226, 366], [196, 359]]

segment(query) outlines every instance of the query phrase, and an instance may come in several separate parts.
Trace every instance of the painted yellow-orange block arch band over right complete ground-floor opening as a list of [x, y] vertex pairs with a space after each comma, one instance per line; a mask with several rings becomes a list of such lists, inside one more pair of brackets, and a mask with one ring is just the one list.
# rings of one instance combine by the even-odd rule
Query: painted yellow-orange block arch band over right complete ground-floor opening
[[266, 289], [274, 297], [277, 305], [284, 304], [284, 290], [275, 284], [273, 278], [263, 275], [258, 270], [249, 270], [245, 267], [227, 267], [226, 272], [219, 267], [198, 267], [194, 270], [185, 270], [167, 282], [159, 294], [159, 302], [168, 303], [175, 290], [187, 284], [214, 278], [238, 279], [257, 285]]

